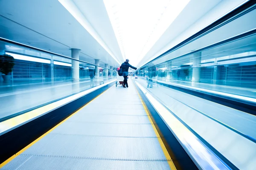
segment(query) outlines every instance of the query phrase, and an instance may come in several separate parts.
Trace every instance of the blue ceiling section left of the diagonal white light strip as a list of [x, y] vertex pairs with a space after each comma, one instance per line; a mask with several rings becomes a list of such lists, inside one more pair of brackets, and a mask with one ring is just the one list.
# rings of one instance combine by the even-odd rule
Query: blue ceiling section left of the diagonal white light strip
[[[68, 57], [70, 48], [79, 48], [81, 60], [94, 63], [94, 59], [100, 59], [102, 66], [107, 63], [118, 67], [123, 61], [120, 58], [116, 62], [58, 0], [5, 0], [0, 6], [5, 6], [0, 10], [0, 37]], [[111, 32], [110, 23], [102, 27]], [[108, 35], [111, 37], [103, 37], [106, 42], [111, 39]], [[118, 58], [119, 48], [110, 47]]]

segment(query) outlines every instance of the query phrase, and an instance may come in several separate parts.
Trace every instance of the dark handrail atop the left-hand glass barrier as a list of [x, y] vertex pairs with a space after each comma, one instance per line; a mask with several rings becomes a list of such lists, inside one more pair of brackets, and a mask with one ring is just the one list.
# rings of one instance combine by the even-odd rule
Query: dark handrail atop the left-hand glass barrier
[[[18, 45], [18, 46], [21, 46], [21, 47], [24, 47], [24, 48], [29, 48], [29, 49], [32, 49], [32, 50], [35, 50], [35, 51], [40, 51], [40, 52], [43, 52], [43, 53], [52, 54], [52, 55], [55, 55], [55, 56], [58, 56], [58, 57], [73, 59], [75, 61], [83, 62], [83, 63], [90, 64], [90, 65], [93, 65], [93, 66], [97, 66], [97, 67], [101, 67], [101, 68], [107, 68], [107, 67], [103, 67], [103, 66], [100, 66], [100, 65], [90, 63], [90, 62], [82, 61], [82, 60], [79, 60], [79, 59], [74, 59], [72, 57], [67, 57], [67, 56], [64, 56], [64, 55], [61, 55], [61, 54], [57, 54], [57, 53], [46, 51], [46, 50], [43, 50], [43, 49], [40, 49], [40, 48], [32, 47], [30, 45], [22, 44], [20, 42], [15, 42], [15, 41], [12, 41], [12, 40], [8, 40], [8, 39], [3, 38], [3, 37], [0, 37], [0, 41], [7, 42], [7, 43], [10, 43], [10, 44], [13, 44], [13, 45]], [[40, 58], [42, 58], [42, 57], [40, 57]], [[110, 68], [107, 68], [107, 69], [110, 69]]]

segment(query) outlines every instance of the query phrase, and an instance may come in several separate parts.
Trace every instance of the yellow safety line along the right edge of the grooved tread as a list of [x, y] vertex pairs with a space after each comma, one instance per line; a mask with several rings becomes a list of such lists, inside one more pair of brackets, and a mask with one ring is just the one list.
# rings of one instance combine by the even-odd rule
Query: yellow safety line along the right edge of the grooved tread
[[[137, 91], [137, 89], [136, 89], [136, 91]], [[145, 112], [146, 112], [146, 114], [148, 116], [149, 122], [151, 123], [151, 125], [153, 127], [154, 133], [157, 136], [158, 142], [159, 142], [159, 144], [160, 144], [160, 146], [161, 146], [161, 148], [163, 150], [163, 154], [166, 157], [166, 160], [167, 160], [167, 162], [169, 164], [169, 167], [171, 168], [171, 170], [177, 170], [177, 168], [175, 167], [175, 164], [174, 164], [170, 154], [168, 153], [168, 151], [167, 151], [167, 149], [166, 149], [166, 147], [165, 147], [165, 145], [163, 143], [163, 140], [161, 139], [161, 137], [160, 137], [160, 135], [159, 135], [159, 133], [157, 131], [157, 128], [155, 127], [154, 122], [152, 121], [152, 119], [151, 119], [151, 117], [150, 117], [150, 115], [148, 113], [148, 110], [147, 110], [147, 108], [146, 108], [146, 106], [145, 106], [145, 104], [144, 104], [144, 102], [143, 102], [143, 100], [142, 100], [142, 98], [141, 98], [141, 96], [140, 96], [138, 91], [137, 91], [137, 94], [139, 95], [140, 101], [141, 101], [141, 103], [143, 105], [143, 108], [145, 109]]]

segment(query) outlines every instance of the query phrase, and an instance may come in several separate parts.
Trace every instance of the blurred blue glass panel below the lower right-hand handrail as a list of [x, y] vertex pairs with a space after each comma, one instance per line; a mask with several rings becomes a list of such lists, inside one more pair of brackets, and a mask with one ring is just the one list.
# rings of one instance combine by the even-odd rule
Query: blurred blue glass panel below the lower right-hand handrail
[[151, 62], [138, 77], [147, 88], [173, 83], [256, 98], [256, 34], [191, 53]]

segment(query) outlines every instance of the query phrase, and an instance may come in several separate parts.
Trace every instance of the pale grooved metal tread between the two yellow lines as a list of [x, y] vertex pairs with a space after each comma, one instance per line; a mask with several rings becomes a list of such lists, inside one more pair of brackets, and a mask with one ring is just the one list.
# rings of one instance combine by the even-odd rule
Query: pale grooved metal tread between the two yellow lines
[[170, 170], [137, 91], [111, 87], [3, 170]]

